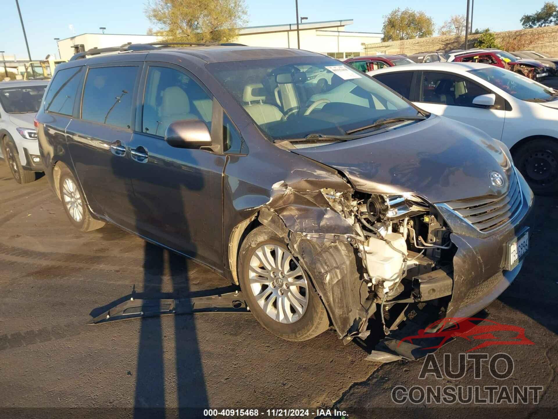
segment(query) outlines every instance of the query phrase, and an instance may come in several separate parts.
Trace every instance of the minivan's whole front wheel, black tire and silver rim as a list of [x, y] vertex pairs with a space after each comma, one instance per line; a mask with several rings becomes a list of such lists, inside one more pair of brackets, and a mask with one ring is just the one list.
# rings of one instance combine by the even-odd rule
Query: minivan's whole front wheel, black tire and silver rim
[[246, 236], [238, 278], [254, 317], [272, 334], [302, 341], [328, 329], [328, 313], [309, 275], [270, 228], [259, 226]]

